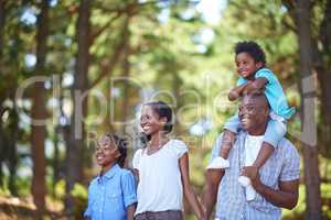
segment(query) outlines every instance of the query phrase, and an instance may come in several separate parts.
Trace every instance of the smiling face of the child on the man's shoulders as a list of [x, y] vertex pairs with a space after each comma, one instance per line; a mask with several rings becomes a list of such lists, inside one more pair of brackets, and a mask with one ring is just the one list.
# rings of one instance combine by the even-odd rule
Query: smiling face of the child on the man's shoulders
[[253, 74], [263, 66], [261, 62], [255, 62], [254, 58], [246, 52], [239, 53], [235, 57], [237, 73], [249, 79]]

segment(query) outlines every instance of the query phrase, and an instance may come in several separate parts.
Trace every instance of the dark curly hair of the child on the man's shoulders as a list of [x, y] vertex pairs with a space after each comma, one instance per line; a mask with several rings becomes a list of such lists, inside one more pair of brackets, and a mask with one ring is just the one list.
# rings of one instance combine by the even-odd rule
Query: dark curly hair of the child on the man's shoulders
[[261, 62], [266, 65], [266, 54], [264, 50], [254, 41], [243, 41], [235, 45], [235, 54], [248, 53], [255, 62]]

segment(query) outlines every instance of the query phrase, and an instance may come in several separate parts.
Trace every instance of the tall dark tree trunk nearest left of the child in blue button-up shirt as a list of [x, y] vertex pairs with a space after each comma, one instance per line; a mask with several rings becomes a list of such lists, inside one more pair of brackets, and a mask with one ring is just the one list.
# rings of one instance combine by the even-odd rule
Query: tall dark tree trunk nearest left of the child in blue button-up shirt
[[[71, 196], [75, 183], [83, 179], [83, 157], [85, 148], [84, 117], [87, 113], [87, 96], [84, 92], [88, 88], [88, 63], [89, 63], [89, 6], [90, 0], [82, 0], [77, 20], [77, 57], [75, 66], [74, 85], [72, 87], [73, 114], [70, 127], [70, 140], [66, 145], [66, 211], [74, 208], [74, 200]], [[84, 101], [83, 101], [84, 99]]]

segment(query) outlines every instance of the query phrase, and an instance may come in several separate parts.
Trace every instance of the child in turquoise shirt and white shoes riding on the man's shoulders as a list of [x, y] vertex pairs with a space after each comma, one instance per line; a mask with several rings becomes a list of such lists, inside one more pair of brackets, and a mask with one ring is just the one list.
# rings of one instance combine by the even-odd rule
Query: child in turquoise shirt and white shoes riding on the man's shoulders
[[[295, 109], [287, 105], [286, 96], [275, 74], [265, 67], [266, 56], [257, 43], [237, 43], [235, 46], [235, 63], [239, 79], [237, 86], [228, 94], [228, 99], [232, 101], [245, 94], [265, 92], [271, 109], [270, 120], [257, 158], [253, 164], [249, 164], [258, 170], [277, 147], [278, 142], [284, 138], [287, 120], [292, 117]], [[228, 167], [227, 156], [234, 144], [235, 134], [239, 125], [238, 116], [232, 117], [225, 123], [220, 156], [211, 162], [207, 169]], [[239, 182], [244, 186], [249, 185], [249, 179], [239, 178]], [[254, 196], [250, 195], [249, 200], [252, 199], [254, 199]]]

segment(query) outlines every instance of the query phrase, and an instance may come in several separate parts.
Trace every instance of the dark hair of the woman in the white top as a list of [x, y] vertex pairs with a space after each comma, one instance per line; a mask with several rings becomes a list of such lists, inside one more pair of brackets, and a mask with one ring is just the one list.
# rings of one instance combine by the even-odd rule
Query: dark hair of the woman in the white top
[[[159, 118], [166, 118], [167, 123], [163, 127], [163, 131], [166, 133], [170, 133], [172, 131], [172, 110], [171, 108], [163, 101], [151, 101], [147, 102], [143, 106], [150, 107], [154, 113], [159, 116]], [[140, 138], [141, 142], [146, 145], [148, 141], [150, 141], [150, 135], [145, 135]]]

